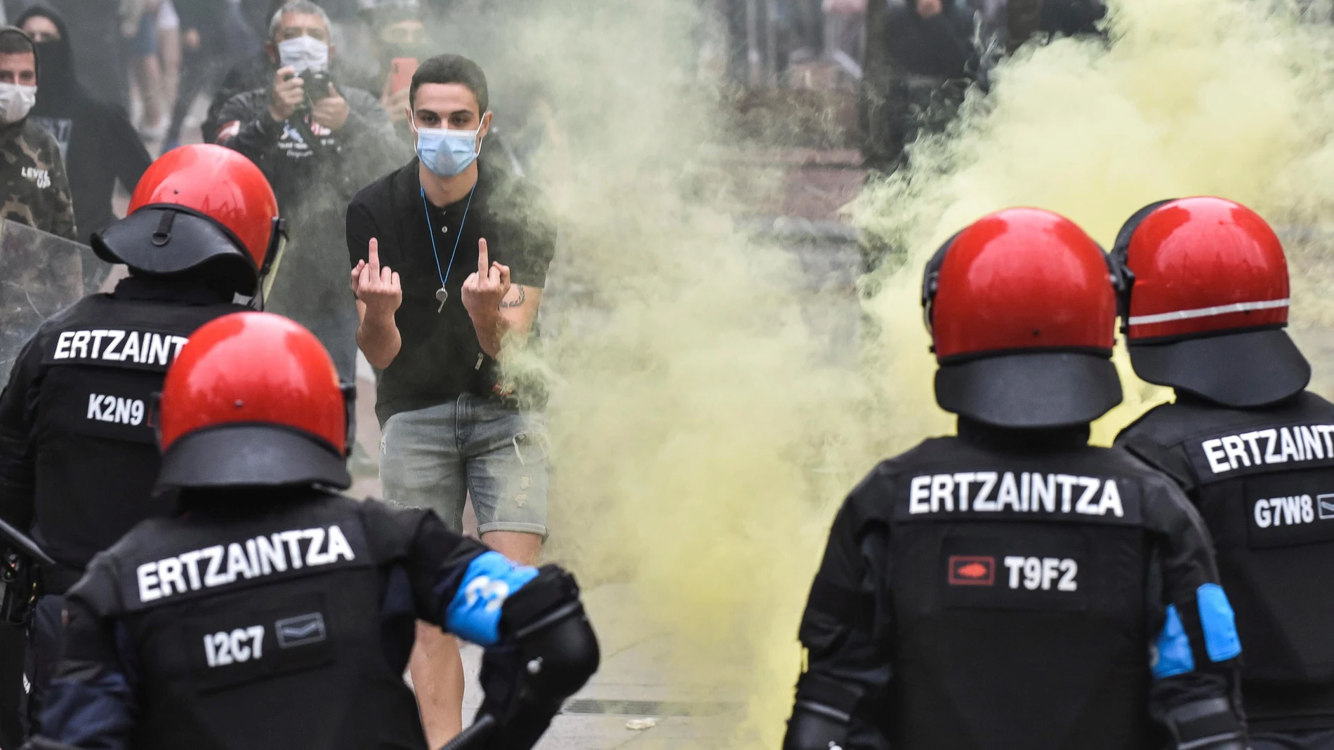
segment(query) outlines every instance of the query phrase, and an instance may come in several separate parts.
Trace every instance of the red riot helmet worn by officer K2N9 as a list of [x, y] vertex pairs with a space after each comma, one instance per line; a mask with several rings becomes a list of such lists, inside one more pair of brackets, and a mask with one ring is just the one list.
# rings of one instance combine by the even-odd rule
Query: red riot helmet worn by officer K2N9
[[196, 144], [153, 161], [129, 198], [129, 216], [93, 234], [92, 248], [139, 273], [207, 270], [255, 294], [281, 237], [277, 198], [259, 167], [228, 148]]

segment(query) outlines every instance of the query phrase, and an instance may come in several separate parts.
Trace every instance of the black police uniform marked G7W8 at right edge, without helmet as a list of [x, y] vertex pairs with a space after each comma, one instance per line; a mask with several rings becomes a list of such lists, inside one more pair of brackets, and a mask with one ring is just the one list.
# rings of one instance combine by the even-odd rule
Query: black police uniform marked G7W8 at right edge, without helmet
[[1301, 392], [1233, 409], [1178, 390], [1117, 445], [1170, 474], [1209, 525], [1251, 727], [1334, 729], [1334, 405]]

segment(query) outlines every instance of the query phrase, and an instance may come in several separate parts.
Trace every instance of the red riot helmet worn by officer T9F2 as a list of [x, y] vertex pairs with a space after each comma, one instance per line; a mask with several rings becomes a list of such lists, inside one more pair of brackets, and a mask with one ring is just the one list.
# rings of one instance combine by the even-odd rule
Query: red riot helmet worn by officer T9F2
[[922, 305], [942, 409], [1003, 428], [1091, 422], [1121, 404], [1117, 280], [1069, 218], [984, 216], [926, 266]]

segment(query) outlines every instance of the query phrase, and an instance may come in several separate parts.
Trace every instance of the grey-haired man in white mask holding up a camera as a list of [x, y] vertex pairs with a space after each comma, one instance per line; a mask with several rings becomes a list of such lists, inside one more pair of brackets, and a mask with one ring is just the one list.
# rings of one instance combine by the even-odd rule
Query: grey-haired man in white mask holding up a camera
[[319, 5], [284, 4], [269, 32], [279, 69], [271, 85], [223, 107], [217, 143], [264, 171], [288, 217], [291, 242], [275, 269], [267, 309], [311, 329], [350, 382], [356, 308], [340, 252], [343, 210], [360, 187], [408, 152], [374, 95], [329, 77], [335, 47]]

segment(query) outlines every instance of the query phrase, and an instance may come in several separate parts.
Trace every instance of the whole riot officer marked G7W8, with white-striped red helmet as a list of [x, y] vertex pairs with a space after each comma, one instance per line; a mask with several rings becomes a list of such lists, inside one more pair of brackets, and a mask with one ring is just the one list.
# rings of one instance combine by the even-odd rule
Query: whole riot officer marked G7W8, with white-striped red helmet
[[1113, 256], [1135, 373], [1175, 389], [1117, 438], [1179, 484], [1214, 538], [1246, 645], [1253, 747], [1334, 747], [1334, 405], [1283, 330], [1274, 230], [1215, 197], [1161, 201]]

